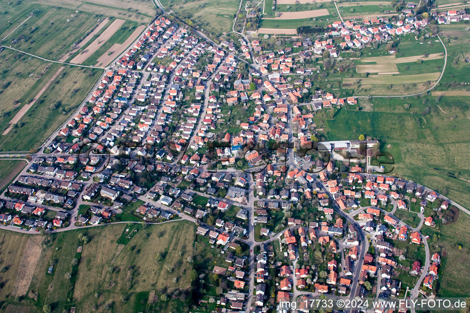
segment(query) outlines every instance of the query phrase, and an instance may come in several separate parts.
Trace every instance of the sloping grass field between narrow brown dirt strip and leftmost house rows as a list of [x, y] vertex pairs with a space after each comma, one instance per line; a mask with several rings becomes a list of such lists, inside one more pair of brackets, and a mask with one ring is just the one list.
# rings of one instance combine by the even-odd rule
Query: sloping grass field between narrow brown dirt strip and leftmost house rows
[[[65, 66], [47, 91], [18, 122], [19, 127], [0, 136], [0, 150], [28, 151], [39, 147], [78, 108], [101, 73], [100, 69]], [[7, 126], [3, 124], [1, 132]]]

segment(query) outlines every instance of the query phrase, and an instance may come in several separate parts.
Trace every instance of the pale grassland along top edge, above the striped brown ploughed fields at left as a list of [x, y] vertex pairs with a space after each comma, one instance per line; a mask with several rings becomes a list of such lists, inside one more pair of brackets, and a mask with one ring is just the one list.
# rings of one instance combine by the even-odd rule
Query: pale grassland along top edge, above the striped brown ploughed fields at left
[[34, 0], [34, 3], [85, 11], [96, 17], [114, 16], [140, 23], [150, 23], [157, 13], [151, 0]]

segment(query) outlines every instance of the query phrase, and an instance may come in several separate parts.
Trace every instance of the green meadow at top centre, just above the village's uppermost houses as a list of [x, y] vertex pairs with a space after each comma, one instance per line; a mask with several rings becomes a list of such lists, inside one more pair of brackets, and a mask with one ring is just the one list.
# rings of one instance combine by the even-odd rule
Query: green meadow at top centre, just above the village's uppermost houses
[[232, 31], [234, 15], [238, 11], [238, 0], [196, 0], [182, 3], [180, 0], [161, 0], [164, 8], [171, 9], [184, 20], [189, 18], [195, 25], [212, 34]]

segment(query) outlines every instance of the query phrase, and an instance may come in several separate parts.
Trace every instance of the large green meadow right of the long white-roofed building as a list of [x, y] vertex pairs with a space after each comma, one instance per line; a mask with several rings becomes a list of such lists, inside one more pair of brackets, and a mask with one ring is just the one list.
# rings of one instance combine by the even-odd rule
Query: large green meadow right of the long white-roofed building
[[[381, 150], [393, 156], [392, 173], [444, 192], [462, 206], [470, 207], [470, 183], [466, 181], [470, 180], [469, 100], [443, 97], [436, 103], [436, 98], [373, 98], [370, 102], [360, 99], [360, 105], [372, 106], [372, 112], [348, 107], [339, 110], [333, 120], [324, 112], [317, 114], [315, 120], [324, 127], [329, 140], [357, 138], [360, 134], [380, 140]], [[410, 108], [405, 109], [404, 104], [410, 104]], [[430, 112], [424, 115], [424, 122], [421, 113], [426, 107], [430, 107]]]

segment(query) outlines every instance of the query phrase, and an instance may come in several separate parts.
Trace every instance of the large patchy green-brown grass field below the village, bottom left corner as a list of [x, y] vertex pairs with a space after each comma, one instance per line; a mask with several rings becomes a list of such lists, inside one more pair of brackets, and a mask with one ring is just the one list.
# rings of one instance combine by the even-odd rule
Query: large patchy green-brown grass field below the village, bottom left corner
[[[118, 244], [118, 237], [129, 228], [138, 231], [127, 244]], [[77, 246], [82, 245], [79, 233], [90, 238], [81, 253], [76, 252]], [[91, 312], [95, 305], [101, 312], [112, 301], [116, 304], [113, 312], [141, 312], [149, 309], [147, 298], [152, 290], [186, 290], [190, 286], [187, 274], [192, 266], [187, 259], [194, 253], [195, 226], [186, 221], [146, 228], [140, 224], [117, 224], [78, 229], [49, 235], [44, 241], [40, 236], [1, 231], [0, 258], [2, 266], [8, 267], [6, 272], [0, 273], [3, 282], [0, 300], [5, 304], [18, 305], [10, 295], [20, 277], [18, 265], [28, 255], [26, 247], [31, 244], [28, 242], [31, 238], [42, 250], [39, 249], [40, 255], [31, 262], [34, 268], [29, 285], [29, 290], [38, 293], [38, 298], [28, 297], [23, 302], [28, 308], [25, 312], [35, 312], [44, 304], [51, 304], [54, 312], [71, 306], [76, 306], [77, 312]], [[164, 258], [156, 261], [159, 252]], [[72, 266], [74, 258], [79, 260], [76, 266]], [[52, 275], [47, 274], [50, 260], [55, 261]], [[166, 265], [172, 267], [171, 272]], [[66, 273], [71, 273], [71, 279], [65, 277]], [[177, 283], [173, 282], [173, 277], [177, 278]], [[95, 297], [95, 293], [99, 296]], [[143, 298], [145, 301], [141, 302]]]

